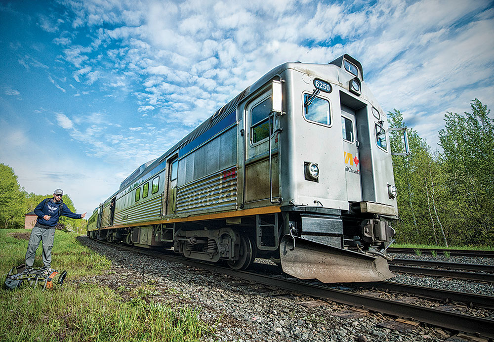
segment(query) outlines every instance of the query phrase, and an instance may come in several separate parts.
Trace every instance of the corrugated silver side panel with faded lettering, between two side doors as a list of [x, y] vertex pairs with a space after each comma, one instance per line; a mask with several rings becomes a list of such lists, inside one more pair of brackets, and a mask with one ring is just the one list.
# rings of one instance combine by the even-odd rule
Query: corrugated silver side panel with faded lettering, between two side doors
[[177, 214], [221, 210], [237, 204], [237, 168], [228, 168], [177, 189]]

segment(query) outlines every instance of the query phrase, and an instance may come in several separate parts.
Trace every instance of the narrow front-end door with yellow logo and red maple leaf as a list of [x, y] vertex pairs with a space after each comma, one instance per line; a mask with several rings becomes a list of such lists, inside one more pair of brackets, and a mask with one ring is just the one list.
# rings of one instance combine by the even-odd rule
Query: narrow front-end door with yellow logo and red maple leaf
[[343, 158], [345, 160], [346, 191], [348, 201], [362, 201], [360, 180], [359, 141], [357, 138], [355, 111], [341, 105], [341, 129], [343, 131]]

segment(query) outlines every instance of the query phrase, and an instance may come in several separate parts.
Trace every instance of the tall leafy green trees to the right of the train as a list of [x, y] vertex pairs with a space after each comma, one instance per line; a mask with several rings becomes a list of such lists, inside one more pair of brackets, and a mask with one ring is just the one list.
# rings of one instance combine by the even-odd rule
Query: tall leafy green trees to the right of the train
[[[494, 246], [494, 119], [479, 99], [471, 112], [448, 112], [433, 150], [410, 129], [410, 155], [393, 156], [401, 218], [393, 224], [404, 243]], [[388, 112], [390, 127], [403, 128], [400, 111]], [[400, 133], [392, 151], [403, 150]]]

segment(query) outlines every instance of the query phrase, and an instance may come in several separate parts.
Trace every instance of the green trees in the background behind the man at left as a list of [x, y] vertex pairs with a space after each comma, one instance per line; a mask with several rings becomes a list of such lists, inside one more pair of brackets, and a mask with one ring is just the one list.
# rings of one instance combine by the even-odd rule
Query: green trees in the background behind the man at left
[[[14, 170], [0, 163], [0, 228], [24, 228], [24, 214], [31, 213], [42, 200], [51, 197], [53, 194], [37, 195], [25, 191], [19, 185]], [[73, 213], [76, 213], [76, 207], [69, 195], [63, 195], [63, 203]], [[60, 223], [80, 233], [83, 233], [87, 226], [86, 219], [73, 219], [65, 216], [60, 217]]]

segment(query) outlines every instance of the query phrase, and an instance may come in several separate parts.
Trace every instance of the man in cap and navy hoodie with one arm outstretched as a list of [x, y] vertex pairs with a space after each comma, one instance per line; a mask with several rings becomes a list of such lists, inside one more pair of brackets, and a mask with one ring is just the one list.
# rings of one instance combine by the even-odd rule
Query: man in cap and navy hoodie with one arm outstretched
[[84, 214], [75, 214], [70, 211], [62, 201], [62, 189], [56, 189], [53, 198], [46, 198], [35, 208], [34, 213], [38, 215], [36, 224], [29, 237], [28, 251], [26, 252], [26, 268], [33, 267], [36, 250], [43, 242], [43, 264], [48, 268], [51, 264], [51, 248], [55, 239], [55, 226], [60, 216], [70, 218], [84, 218]]

